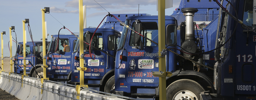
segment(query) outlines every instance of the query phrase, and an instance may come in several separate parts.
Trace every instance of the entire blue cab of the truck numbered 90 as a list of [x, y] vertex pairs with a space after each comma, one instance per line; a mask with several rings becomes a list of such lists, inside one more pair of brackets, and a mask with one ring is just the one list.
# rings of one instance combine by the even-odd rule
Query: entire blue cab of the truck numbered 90
[[[125, 25], [131, 29], [135, 29], [137, 23], [141, 23], [141, 35], [158, 43], [158, 16], [130, 16], [125, 21]], [[172, 16], [165, 16], [165, 29], [168, 37], [166, 44], [176, 44], [177, 20]], [[116, 53], [115, 90], [111, 92], [126, 96], [155, 96], [159, 78], [153, 76], [152, 71], [159, 70], [158, 45], [142, 36], [137, 38], [138, 41], [135, 38], [137, 34], [124, 27]], [[168, 66], [174, 66], [174, 54], [167, 55]], [[168, 67], [166, 70], [172, 71], [174, 68]]]

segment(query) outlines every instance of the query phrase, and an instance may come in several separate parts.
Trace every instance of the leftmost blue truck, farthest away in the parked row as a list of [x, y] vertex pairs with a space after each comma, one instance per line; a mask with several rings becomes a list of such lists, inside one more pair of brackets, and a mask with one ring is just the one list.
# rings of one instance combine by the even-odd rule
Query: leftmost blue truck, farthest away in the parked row
[[[48, 47], [49, 42], [47, 42], [46, 44], [46, 47]], [[23, 42], [20, 42], [16, 50], [16, 56], [14, 59], [14, 72], [17, 74], [23, 74], [23, 55], [25, 54], [26, 64], [28, 64], [28, 66], [26, 67], [26, 74], [30, 77], [36, 77], [37, 74], [35, 72], [35, 69], [38, 69], [43, 65], [43, 58], [42, 56], [40, 56], [40, 54], [43, 53], [43, 43], [42, 41], [27, 41], [25, 48], [26, 52], [23, 53]], [[37, 77], [40, 77], [41, 74], [42, 73], [38, 73], [39, 76]]]

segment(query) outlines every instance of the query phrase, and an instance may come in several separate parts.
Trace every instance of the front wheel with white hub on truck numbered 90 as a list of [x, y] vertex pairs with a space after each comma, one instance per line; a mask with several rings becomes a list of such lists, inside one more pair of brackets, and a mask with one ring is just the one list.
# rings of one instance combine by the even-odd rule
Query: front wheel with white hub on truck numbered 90
[[200, 93], [205, 91], [197, 82], [189, 79], [174, 81], [166, 88], [167, 100], [199, 100]]

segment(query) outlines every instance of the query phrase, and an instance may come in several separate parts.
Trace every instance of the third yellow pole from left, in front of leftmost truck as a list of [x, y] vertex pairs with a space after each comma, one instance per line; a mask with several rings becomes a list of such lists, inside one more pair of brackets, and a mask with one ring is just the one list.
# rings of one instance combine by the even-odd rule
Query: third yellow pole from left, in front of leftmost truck
[[25, 20], [22, 20], [22, 24], [23, 24], [23, 70], [24, 70], [23, 75], [26, 76], [26, 33], [25, 33]]

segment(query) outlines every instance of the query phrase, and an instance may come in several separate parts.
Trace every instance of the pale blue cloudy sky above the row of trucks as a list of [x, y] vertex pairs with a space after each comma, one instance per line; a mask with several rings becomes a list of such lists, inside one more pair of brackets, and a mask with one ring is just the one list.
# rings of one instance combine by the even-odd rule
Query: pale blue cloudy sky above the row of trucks
[[[97, 27], [101, 20], [108, 14], [137, 14], [138, 5], [140, 14], [158, 15], [156, 11], [157, 0], [83, 0], [86, 5], [87, 28]], [[173, 7], [165, 9], [165, 15], [171, 15], [175, 8], [179, 7], [181, 0], [173, 0]], [[15, 26], [15, 33], [11, 35], [18, 42], [23, 42], [23, 20], [29, 19], [29, 25], [34, 41], [41, 41], [42, 12], [44, 7], [50, 7], [50, 13], [45, 13], [47, 22], [47, 34], [58, 34], [63, 25], [73, 33], [79, 32], [78, 0], [1, 0], [0, 1], [0, 32], [5, 31], [4, 56], [10, 56], [8, 42], [10, 41], [11, 26]], [[105, 20], [103, 21], [105, 22]], [[102, 25], [102, 24], [101, 24]], [[100, 25], [100, 26], [101, 26]], [[32, 41], [28, 32], [28, 24], [25, 24], [27, 41]], [[61, 30], [60, 34], [71, 34], [68, 30]], [[1, 41], [0, 41], [1, 42]], [[12, 56], [15, 55], [16, 44], [13, 42]], [[1, 50], [0, 50], [1, 53]]]

